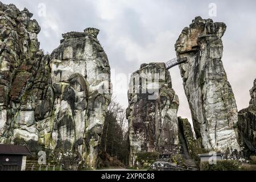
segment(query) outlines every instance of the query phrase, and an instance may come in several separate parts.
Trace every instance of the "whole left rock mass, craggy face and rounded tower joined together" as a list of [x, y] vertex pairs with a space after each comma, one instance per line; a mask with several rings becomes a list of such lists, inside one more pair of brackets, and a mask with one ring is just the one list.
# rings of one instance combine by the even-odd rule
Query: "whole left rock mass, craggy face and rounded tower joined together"
[[81, 167], [96, 167], [111, 100], [108, 57], [99, 30], [68, 32], [51, 56], [39, 50], [32, 14], [0, 4], [0, 142], [32, 151], [67, 150]]

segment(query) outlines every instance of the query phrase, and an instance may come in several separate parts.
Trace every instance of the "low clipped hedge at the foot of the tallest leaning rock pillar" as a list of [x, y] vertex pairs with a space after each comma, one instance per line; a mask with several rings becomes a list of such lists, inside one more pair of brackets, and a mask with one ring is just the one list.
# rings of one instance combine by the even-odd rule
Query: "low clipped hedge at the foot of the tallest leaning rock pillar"
[[218, 160], [217, 164], [210, 165], [209, 162], [201, 162], [201, 171], [238, 171], [239, 162], [237, 160]]

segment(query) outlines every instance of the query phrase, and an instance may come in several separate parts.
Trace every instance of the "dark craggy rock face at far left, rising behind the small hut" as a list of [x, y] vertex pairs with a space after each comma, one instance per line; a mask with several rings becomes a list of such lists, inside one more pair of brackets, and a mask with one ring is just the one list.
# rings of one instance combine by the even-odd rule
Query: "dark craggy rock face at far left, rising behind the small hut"
[[[0, 115], [1, 142], [11, 142], [15, 138], [37, 141], [35, 110], [40, 98], [49, 86], [36, 80], [47, 64], [47, 57], [39, 50], [37, 34], [40, 26], [31, 20], [32, 14], [24, 9], [19, 11], [14, 5], [0, 3], [1, 51], [0, 51]], [[44, 70], [47, 75], [49, 69]], [[27, 90], [31, 95], [27, 97]], [[38, 97], [38, 99], [35, 99]], [[32, 99], [34, 98], [34, 99]]]

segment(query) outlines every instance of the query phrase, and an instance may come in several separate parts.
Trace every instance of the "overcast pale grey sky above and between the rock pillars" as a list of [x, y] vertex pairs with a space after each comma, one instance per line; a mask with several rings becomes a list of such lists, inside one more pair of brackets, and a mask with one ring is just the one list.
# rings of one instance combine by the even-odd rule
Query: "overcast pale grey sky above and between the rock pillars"
[[[27, 7], [42, 30], [40, 47], [51, 53], [60, 44], [61, 34], [100, 29], [98, 39], [104, 47], [112, 69], [112, 80], [127, 77], [123, 88], [116, 88], [116, 100], [127, 107], [128, 75], [142, 63], [164, 62], [176, 56], [174, 44], [184, 27], [195, 16], [224, 22], [222, 61], [236, 97], [238, 110], [249, 105], [249, 90], [256, 78], [256, 1], [149, 1], [149, 0], [16, 0], [20, 10]], [[216, 5], [216, 16], [210, 3]], [[210, 5], [210, 8], [209, 8]], [[44, 7], [46, 11], [44, 13]], [[209, 11], [211, 14], [209, 14]], [[173, 88], [180, 98], [179, 115], [189, 118], [179, 68], [170, 70]]]

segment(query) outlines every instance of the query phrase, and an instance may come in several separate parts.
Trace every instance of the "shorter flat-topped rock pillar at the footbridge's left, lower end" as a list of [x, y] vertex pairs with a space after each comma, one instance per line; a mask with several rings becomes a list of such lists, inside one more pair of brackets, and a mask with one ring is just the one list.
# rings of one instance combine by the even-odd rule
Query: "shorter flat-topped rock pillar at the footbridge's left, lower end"
[[165, 64], [142, 64], [131, 75], [128, 99], [130, 166], [134, 166], [137, 152], [176, 152], [179, 98]]

